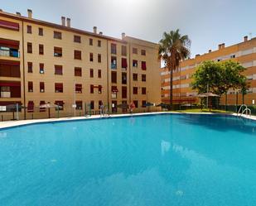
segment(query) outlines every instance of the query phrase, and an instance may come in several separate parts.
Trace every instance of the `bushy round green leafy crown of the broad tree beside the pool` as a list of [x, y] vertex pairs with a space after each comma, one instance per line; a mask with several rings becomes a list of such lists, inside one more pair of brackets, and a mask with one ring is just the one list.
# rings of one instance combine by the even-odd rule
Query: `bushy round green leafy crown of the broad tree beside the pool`
[[192, 89], [196, 89], [198, 93], [208, 91], [219, 95], [227, 94], [229, 89], [241, 89], [246, 93], [249, 84], [246, 77], [242, 74], [245, 68], [234, 61], [204, 61], [200, 64], [196, 73], [193, 75]]

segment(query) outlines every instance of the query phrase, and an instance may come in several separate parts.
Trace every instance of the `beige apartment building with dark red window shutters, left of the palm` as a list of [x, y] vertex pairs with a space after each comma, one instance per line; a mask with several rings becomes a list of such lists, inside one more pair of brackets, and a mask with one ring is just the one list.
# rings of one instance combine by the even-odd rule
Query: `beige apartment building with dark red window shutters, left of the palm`
[[[46, 103], [60, 106], [60, 117], [99, 113], [101, 104], [111, 113], [125, 113], [122, 103], [137, 110], [147, 102], [161, 102], [158, 46], [122, 34], [104, 36], [0, 11], [0, 111], [11, 112], [17, 103], [24, 117], [47, 117]], [[52, 109], [54, 110], [54, 109]]]

